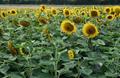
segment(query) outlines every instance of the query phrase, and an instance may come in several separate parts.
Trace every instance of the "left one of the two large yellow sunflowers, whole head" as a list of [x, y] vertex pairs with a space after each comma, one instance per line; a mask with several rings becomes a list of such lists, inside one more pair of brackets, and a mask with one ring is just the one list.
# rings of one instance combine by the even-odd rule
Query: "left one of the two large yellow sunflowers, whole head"
[[70, 20], [64, 20], [61, 23], [61, 31], [67, 34], [72, 34], [76, 32], [77, 28], [74, 23], [72, 23]]

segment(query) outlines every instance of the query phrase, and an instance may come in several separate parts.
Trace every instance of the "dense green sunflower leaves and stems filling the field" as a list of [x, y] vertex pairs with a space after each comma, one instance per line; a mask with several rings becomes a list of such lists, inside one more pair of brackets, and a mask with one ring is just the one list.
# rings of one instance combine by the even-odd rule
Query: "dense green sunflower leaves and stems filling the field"
[[[52, 16], [48, 24], [38, 23], [33, 12], [18, 13], [0, 21], [0, 78], [117, 78], [120, 76], [120, 19], [97, 24], [100, 34], [91, 40], [81, 32], [84, 22], [77, 24], [77, 32], [66, 35], [60, 31], [62, 14]], [[42, 16], [46, 16], [43, 14]], [[72, 19], [73, 17], [71, 17]], [[26, 20], [30, 26], [15, 22]], [[12, 21], [12, 22], [11, 22]], [[48, 33], [43, 30], [48, 29]], [[2, 33], [1, 33], [2, 30]], [[17, 55], [7, 46], [12, 40]], [[74, 49], [75, 58], [67, 54]], [[23, 54], [22, 54], [23, 53]]]

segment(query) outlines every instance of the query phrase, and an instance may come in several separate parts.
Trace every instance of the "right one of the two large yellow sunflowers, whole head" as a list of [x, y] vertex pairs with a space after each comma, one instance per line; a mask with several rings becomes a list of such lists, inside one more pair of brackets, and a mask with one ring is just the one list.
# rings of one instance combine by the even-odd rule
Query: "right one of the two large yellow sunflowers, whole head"
[[99, 34], [97, 27], [90, 22], [84, 24], [82, 32], [88, 38], [94, 38]]

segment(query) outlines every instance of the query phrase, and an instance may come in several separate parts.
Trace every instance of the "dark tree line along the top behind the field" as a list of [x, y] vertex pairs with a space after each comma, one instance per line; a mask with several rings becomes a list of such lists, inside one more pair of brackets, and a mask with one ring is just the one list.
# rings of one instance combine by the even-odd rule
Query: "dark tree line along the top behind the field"
[[73, 4], [73, 5], [86, 5], [86, 4], [120, 4], [119, 0], [1, 0], [1, 4]]

